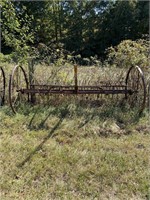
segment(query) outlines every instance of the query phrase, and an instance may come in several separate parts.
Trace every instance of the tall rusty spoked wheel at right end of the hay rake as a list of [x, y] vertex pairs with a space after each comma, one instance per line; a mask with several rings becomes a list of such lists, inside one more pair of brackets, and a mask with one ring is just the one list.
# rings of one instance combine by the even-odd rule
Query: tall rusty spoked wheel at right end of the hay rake
[[130, 108], [135, 109], [140, 115], [146, 103], [146, 85], [140, 67], [132, 66], [126, 77], [126, 86], [129, 93], [126, 95]]

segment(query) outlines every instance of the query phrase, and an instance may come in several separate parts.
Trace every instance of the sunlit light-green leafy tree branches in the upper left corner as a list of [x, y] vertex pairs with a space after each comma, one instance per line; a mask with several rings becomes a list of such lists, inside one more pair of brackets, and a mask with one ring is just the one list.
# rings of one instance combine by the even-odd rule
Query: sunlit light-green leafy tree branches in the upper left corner
[[[23, 61], [30, 51], [29, 43], [33, 42], [32, 17], [25, 13], [26, 7], [17, 8], [9, 1], [2, 3], [2, 44], [14, 50], [16, 61]], [[22, 13], [25, 13], [24, 18], [20, 16]]]

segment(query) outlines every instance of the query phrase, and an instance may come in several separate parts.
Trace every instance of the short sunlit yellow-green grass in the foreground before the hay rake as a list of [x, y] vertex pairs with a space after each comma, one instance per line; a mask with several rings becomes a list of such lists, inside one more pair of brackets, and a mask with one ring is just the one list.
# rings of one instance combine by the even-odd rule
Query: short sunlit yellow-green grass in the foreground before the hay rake
[[148, 113], [71, 102], [1, 108], [1, 199], [148, 199]]

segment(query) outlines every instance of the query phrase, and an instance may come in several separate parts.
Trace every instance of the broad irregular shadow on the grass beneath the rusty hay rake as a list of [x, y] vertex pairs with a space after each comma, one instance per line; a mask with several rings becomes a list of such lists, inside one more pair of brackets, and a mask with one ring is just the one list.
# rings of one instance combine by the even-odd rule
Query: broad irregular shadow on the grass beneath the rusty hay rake
[[[51, 108], [49, 110], [49, 108]], [[45, 112], [46, 111], [46, 112]], [[49, 111], [47, 113], [47, 111]], [[44, 119], [43, 115], [40, 116], [39, 114], [45, 112]], [[106, 121], [108, 119], [112, 119], [116, 121], [116, 124], [118, 124], [120, 127], [124, 127], [127, 124], [136, 124], [139, 122], [140, 116], [136, 114], [133, 110], [129, 110], [126, 107], [121, 106], [120, 104], [108, 104], [108, 105], [101, 105], [101, 107], [98, 104], [88, 104], [83, 103], [80, 104], [80, 102], [76, 103], [66, 103], [64, 105], [58, 105], [58, 106], [47, 106], [46, 108], [37, 108], [29, 122], [28, 128], [30, 130], [40, 130], [40, 129], [48, 129], [48, 127], [45, 126], [46, 121], [48, 118], [52, 116], [54, 117], [60, 117], [64, 113], [68, 114], [68, 120], [74, 120], [77, 117], [82, 118], [81, 122], [78, 124], [78, 129], [81, 129], [82, 127], [86, 126], [90, 121], [94, 120], [95, 118], [98, 118], [99, 121]], [[36, 121], [37, 119], [40, 119], [39, 121]]]

